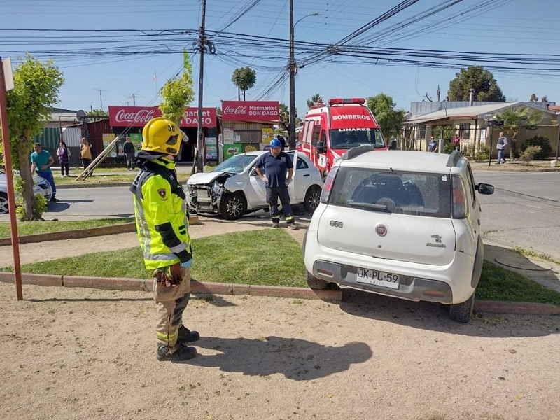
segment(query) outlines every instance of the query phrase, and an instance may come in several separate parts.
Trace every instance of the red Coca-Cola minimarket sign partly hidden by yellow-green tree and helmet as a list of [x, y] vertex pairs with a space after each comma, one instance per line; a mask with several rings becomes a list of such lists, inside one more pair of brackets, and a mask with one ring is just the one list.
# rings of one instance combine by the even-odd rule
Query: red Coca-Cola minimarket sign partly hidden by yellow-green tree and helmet
[[[144, 127], [149, 120], [162, 115], [158, 106], [109, 106], [111, 127]], [[181, 127], [198, 126], [198, 109], [189, 107], [179, 124]], [[216, 127], [216, 109], [202, 109], [202, 127]]]

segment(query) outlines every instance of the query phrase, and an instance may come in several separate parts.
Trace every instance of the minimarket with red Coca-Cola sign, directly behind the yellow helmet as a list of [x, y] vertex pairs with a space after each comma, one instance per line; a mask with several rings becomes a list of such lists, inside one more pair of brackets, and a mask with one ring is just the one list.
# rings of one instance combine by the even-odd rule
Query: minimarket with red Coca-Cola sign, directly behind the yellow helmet
[[[123, 141], [118, 143], [116, 151], [112, 154], [115, 155], [113, 158], [124, 157], [123, 143], [125, 136], [129, 135], [138, 153], [142, 144], [142, 128], [149, 120], [161, 115], [158, 106], [109, 106], [111, 133], [103, 134], [104, 147], [111, 143], [116, 136], [120, 136]], [[179, 125], [187, 138], [183, 140], [178, 161], [193, 162], [197, 147], [198, 109], [188, 107]], [[202, 109], [202, 130], [204, 131], [205, 160], [218, 160], [219, 133], [216, 108]]]

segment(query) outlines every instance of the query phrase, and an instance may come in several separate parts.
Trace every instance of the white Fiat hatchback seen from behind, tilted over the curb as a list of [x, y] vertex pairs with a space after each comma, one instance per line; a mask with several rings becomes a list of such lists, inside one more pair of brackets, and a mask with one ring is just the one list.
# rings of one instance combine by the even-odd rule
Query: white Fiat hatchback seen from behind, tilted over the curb
[[309, 287], [440, 302], [468, 322], [484, 260], [476, 192], [493, 189], [475, 184], [458, 151], [351, 149], [325, 179], [306, 233]]

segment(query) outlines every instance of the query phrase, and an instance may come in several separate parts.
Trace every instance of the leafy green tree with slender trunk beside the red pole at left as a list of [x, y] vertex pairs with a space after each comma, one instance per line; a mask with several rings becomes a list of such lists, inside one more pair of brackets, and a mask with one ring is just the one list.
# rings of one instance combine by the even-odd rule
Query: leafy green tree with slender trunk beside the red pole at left
[[58, 92], [64, 83], [62, 72], [52, 60], [39, 62], [27, 54], [13, 72], [14, 88], [6, 92], [8, 132], [13, 167], [22, 176], [23, 205], [20, 219], [32, 221], [41, 218], [34, 209], [33, 178], [29, 153], [36, 134], [49, 120], [52, 106], [58, 102]]

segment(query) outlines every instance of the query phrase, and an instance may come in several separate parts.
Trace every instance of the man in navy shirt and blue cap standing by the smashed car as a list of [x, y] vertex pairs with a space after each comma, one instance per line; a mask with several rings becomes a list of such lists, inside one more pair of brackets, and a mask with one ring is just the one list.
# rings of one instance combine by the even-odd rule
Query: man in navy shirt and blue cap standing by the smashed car
[[[270, 153], [261, 155], [255, 163], [255, 168], [260, 179], [267, 185], [267, 203], [270, 206], [272, 226], [274, 228], [279, 227], [278, 199], [280, 199], [288, 228], [298, 230], [299, 228], [293, 218], [288, 193], [288, 185], [292, 182], [293, 163], [290, 156], [281, 151], [281, 148], [282, 144], [279, 139], [272, 140], [270, 142]], [[262, 172], [263, 168], [265, 169], [264, 174]], [[286, 174], [288, 174], [288, 179], [286, 179]]]

